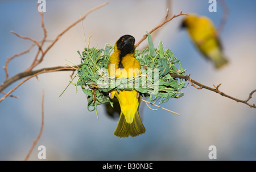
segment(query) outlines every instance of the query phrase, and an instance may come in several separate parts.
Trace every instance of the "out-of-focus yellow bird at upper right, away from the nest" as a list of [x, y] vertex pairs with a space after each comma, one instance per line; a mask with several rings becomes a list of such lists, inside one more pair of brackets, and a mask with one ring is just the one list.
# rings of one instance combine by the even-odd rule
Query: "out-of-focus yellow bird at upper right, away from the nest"
[[217, 69], [228, 63], [222, 53], [217, 31], [209, 18], [195, 14], [188, 15], [183, 20], [181, 27], [187, 28], [188, 34], [196, 47], [204, 57], [213, 62]]

